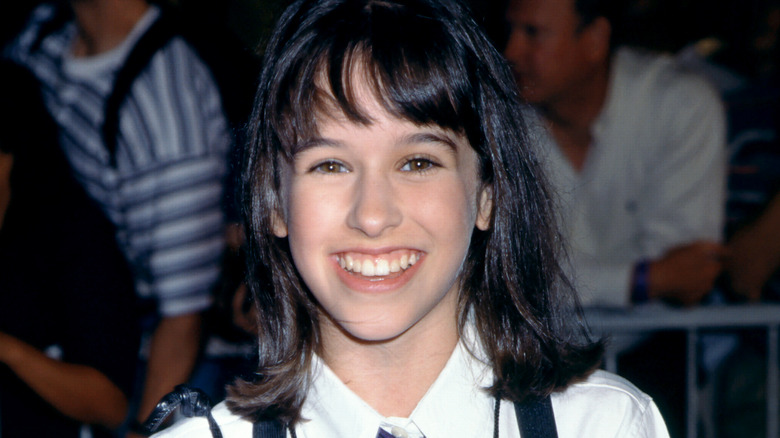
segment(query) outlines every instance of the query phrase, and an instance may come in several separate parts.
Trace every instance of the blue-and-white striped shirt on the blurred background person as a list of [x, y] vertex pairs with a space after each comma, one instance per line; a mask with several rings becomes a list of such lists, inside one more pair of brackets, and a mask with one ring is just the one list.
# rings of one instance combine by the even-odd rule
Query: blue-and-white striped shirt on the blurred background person
[[62, 147], [115, 224], [138, 295], [156, 300], [164, 316], [208, 307], [224, 248], [222, 200], [232, 144], [208, 68], [180, 37], [154, 54], [120, 108], [112, 166], [101, 138], [105, 102], [128, 53], [160, 11], [150, 7], [123, 43], [86, 58], [70, 54], [72, 22], [31, 49], [53, 14], [50, 5], [38, 7], [5, 55], [42, 82]]

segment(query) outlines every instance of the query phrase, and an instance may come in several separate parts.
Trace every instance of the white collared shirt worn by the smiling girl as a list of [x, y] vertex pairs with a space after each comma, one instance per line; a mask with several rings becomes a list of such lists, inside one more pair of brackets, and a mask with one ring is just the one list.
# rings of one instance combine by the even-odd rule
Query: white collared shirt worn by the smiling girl
[[[491, 383], [492, 373], [460, 343], [409, 418], [383, 417], [321, 360], [315, 366], [314, 383], [302, 409], [306, 420], [296, 426], [298, 438], [375, 438], [379, 427], [410, 438], [493, 436], [494, 399], [482, 389]], [[669, 436], [652, 400], [629, 382], [604, 371], [554, 394], [552, 404], [560, 438]], [[215, 407], [213, 414], [226, 438], [251, 438], [251, 423], [231, 414], [224, 403]], [[188, 419], [156, 435], [210, 436], [204, 418]], [[521, 438], [509, 401], [501, 402], [499, 436]]]

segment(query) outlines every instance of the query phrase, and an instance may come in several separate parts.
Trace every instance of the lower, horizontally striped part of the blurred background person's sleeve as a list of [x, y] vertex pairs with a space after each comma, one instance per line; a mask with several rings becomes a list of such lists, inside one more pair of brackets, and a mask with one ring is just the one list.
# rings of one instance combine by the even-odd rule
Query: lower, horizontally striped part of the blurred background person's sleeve
[[124, 187], [136, 288], [164, 316], [211, 303], [224, 248], [223, 167], [218, 158], [183, 160]]

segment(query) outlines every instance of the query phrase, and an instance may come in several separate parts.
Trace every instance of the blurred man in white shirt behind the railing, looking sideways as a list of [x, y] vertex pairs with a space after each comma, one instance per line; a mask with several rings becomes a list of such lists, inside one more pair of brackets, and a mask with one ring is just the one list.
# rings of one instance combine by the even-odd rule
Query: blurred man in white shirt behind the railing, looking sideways
[[513, 0], [506, 13], [505, 55], [543, 125], [570, 274], [586, 305], [697, 304], [724, 255], [722, 106], [671, 59], [613, 50], [607, 3]]

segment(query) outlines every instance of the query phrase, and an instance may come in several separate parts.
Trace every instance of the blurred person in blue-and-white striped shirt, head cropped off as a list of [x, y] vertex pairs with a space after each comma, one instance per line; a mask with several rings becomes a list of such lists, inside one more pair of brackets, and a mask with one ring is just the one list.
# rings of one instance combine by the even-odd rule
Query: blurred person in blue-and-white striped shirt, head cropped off
[[[148, 361], [139, 419], [188, 379], [199, 354], [201, 315], [225, 246], [232, 144], [214, 77], [165, 27], [166, 17], [145, 0], [43, 4], [5, 50], [43, 84], [65, 155], [114, 224], [144, 300]], [[155, 41], [160, 34], [169, 38]], [[117, 78], [144, 50], [147, 59], [140, 57], [125, 94], [114, 99]]]

